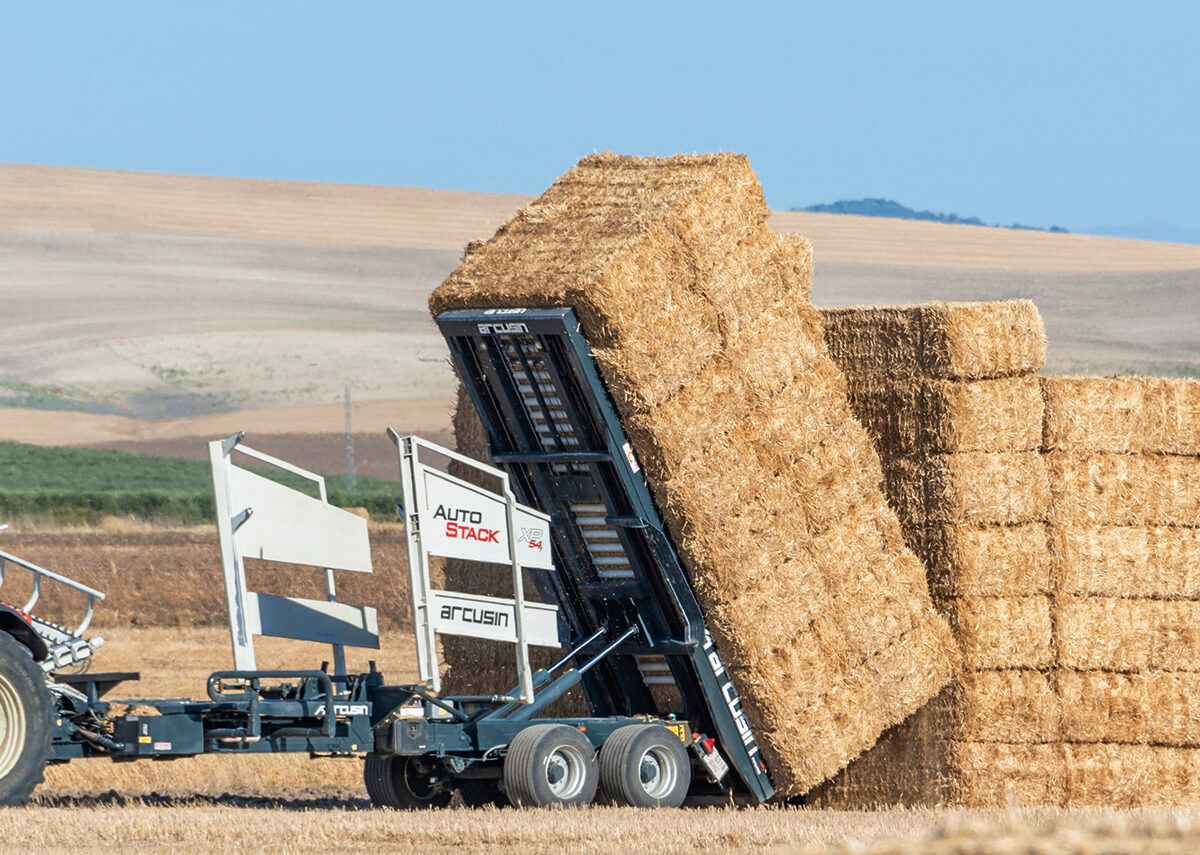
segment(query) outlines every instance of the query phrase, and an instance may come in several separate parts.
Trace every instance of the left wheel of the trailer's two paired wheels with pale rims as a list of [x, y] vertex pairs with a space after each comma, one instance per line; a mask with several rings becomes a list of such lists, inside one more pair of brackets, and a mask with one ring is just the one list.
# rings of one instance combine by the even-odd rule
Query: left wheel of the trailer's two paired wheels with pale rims
[[504, 758], [504, 791], [517, 807], [590, 805], [600, 784], [595, 748], [565, 724], [518, 733]]

